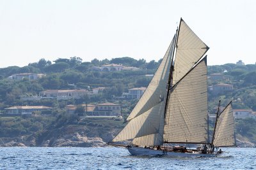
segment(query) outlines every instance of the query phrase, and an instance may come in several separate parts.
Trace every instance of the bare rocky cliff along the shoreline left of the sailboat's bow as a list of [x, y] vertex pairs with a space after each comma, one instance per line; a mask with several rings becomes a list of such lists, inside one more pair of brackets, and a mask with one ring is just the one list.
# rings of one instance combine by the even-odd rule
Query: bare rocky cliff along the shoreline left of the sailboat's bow
[[106, 146], [115, 131], [102, 127], [67, 125], [30, 136], [0, 138], [0, 146], [99, 147]]

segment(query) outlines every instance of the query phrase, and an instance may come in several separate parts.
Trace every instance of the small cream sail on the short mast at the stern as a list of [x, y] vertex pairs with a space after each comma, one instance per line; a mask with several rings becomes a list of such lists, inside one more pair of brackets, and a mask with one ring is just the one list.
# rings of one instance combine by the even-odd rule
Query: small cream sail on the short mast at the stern
[[221, 112], [217, 119], [216, 130], [214, 134], [214, 146], [235, 146], [236, 138], [234, 134], [234, 117], [232, 104]]

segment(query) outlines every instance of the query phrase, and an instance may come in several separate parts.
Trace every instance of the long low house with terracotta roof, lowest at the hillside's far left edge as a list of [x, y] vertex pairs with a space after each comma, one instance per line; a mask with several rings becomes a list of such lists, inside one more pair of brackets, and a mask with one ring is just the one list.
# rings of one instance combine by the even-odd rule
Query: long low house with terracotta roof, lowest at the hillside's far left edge
[[47, 106], [12, 106], [4, 108], [7, 114], [31, 114], [33, 111], [49, 111], [51, 107]]

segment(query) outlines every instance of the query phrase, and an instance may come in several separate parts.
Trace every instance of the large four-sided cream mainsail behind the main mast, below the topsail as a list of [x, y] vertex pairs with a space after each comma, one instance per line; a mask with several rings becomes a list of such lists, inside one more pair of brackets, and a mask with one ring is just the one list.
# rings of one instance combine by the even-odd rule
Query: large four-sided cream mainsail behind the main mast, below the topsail
[[164, 124], [166, 143], [207, 143], [206, 57], [171, 89]]

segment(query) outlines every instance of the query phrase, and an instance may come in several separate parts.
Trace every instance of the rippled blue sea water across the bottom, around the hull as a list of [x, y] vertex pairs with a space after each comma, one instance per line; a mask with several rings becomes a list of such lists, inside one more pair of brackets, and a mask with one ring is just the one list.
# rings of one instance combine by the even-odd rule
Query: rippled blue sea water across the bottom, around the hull
[[220, 157], [132, 156], [125, 148], [0, 148], [0, 169], [256, 169], [256, 148]]

